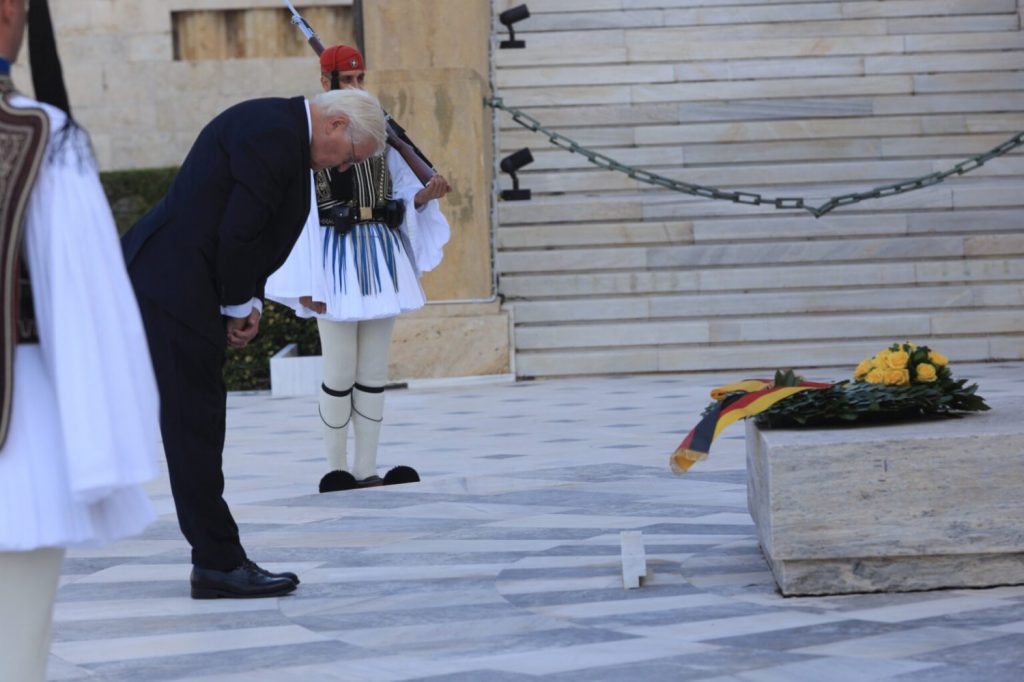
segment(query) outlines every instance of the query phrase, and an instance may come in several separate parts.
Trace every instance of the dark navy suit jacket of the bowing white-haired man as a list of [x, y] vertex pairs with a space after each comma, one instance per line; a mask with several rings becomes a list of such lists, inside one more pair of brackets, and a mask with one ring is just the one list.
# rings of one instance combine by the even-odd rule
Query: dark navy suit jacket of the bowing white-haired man
[[220, 306], [262, 295], [309, 202], [304, 99], [236, 104], [203, 129], [167, 196], [124, 236], [136, 293], [223, 346]]

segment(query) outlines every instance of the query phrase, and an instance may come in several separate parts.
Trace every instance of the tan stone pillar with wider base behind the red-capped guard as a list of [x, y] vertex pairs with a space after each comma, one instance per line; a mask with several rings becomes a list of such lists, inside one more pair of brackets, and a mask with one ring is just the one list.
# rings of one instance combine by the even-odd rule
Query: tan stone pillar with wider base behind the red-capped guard
[[[452, 182], [444, 261], [423, 278], [433, 301], [395, 328], [391, 376], [510, 372], [509, 315], [494, 291], [490, 218], [493, 116], [487, 0], [375, 0], [364, 4], [372, 87]], [[415, 27], [415, 30], [414, 30]]]

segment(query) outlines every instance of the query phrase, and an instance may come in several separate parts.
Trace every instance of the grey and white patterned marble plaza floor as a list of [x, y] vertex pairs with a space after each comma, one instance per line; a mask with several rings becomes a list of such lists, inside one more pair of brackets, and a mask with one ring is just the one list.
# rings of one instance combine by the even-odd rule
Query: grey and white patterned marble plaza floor
[[[953, 371], [995, 410], [1024, 393], [1024, 364]], [[686, 477], [668, 466], [709, 390], [745, 374], [389, 391], [382, 471], [413, 465], [423, 482], [328, 495], [315, 399], [232, 394], [226, 497], [250, 556], [302, 585], [189, 599], [165, 477], [143, 536], [69, 553], [49, 679], [1024, 679], [1024, 587], [775, 591], [746, 511], [742, 426]], [[1021, 480], [1024, 494], [1024, 462]], [[623, 530], [643, 535], [639, 589], [623, 588]]]

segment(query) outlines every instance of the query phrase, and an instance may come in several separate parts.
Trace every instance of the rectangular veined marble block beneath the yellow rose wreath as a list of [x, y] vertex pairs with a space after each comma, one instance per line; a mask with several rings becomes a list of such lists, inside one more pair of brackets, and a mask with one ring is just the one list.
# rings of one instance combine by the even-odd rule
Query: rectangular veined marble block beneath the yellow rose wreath
[[1024, 584], [1024, 399], [843, 429], [746, 420], [748, 505], [784, 595]]

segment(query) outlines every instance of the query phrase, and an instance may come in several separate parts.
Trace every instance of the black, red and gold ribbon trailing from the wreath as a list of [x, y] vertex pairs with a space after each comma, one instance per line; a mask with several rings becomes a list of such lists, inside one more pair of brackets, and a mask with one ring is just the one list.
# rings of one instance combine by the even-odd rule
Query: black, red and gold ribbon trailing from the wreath
[[767, 379], [748, 379], [720, 386], [711, 392], [716, 404], [690, 429], [679, 447], [669, 458], [672, 472], [682, 475], [700, 460], [707, 459], [718, 434], [733, 422], [764, 412], [779, 400], [800, 391], [830, 388], [831, 384], [801, 381], [795, 386], [775, 386]]

